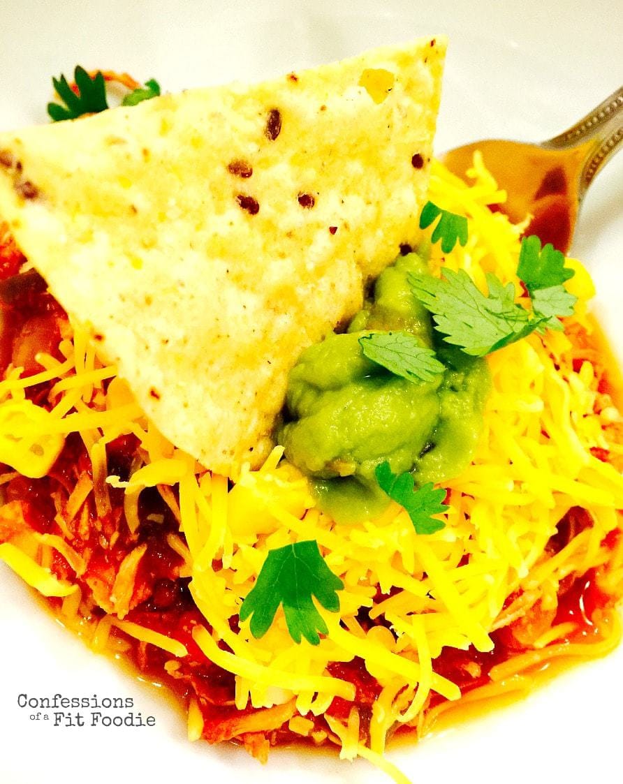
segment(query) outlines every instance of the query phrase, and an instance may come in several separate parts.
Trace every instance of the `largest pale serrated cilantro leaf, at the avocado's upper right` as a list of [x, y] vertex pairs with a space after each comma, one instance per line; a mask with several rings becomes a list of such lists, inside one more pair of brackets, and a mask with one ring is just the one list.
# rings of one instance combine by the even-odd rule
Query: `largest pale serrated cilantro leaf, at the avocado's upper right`
[[503, 285], [493, 274], [486, 276], [489, 296], [484, 296], [465, 270], [444, 270], [445, 279], [410, 273], [409, 283], [417, 299], [432, 313], [435, 326], [446, 343], [460, 346], [465, 354], [484, 357], [515, 343], [548, 317], [531, 318], [515, 303], [515, 286]]

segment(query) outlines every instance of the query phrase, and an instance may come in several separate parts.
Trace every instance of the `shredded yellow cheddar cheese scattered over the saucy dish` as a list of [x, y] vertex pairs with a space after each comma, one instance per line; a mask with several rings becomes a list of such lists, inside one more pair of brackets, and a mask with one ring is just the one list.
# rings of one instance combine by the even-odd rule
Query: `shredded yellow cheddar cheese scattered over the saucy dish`
[[[432, 166], [430, 198], [470, 222], [465, 247], [456, 245], [442, 259], [433, 246], [432, 267], [438, 269], [443, 262], [466, 270], [482, 286], [489, 271], [513, 281], [522, 227], [488, 208], [504, 194], [478, 156], [472, 175], [474, 184], [467, 187], [438, 163]], [[233, 487], [226, 477], [199, 470], [159, 434], [115, 368], [100, 364], [79, 330], [73, 343], [64, 343], [66, 361], [55, 364], [42, 358], [44, 370], [38, 375], [22, 379], [11, 370], [0, 382], [0, 459], [27, 476], [42, 476], [64, 438], [80, 434], [93, 479], [78, 482], [59, 524], [79, 517], [91, 493], [98, 513], [105, 514], [110, 510], [109, 488], [115, 487], [123, 488], [126, 524], [135, 533], [140, 528], [140, 493], [158, 488], [179, 522], [179, 533], [169, 534], [166, 541], [182, 562], [180, 575], [191, 577], [192, 597], [205, 619], [205, 626], [194, 627], [193, 641], [210, 662], [235, 676], [239, 710], [284, 706], [274, 717], [286, 716], [291, 731], [314, 738], [310, 715], [325, 713], [336, 697], [355, 700], [355, 686], [327, 668], [359, 657], [380, 689], [370, 720], [370, 746], [360, 742], [354, 703], [344, 721], [327, 715], [330, 735], [341, 745], [343, 757], [365, 757], [403, 784], [406, 779], [382, 756], [391, 728], [398, 723], [423, 734], [461, 698], [457, 684], [435, 669], [444, 648], [473, 646], [489, 652], [494, 646], [491, 633], [537, 603], [554, 611], [559, 585], [573, 573], [608, 562], [604, 579], [610, 581], [609, 590], [623, 585], [623, 543], [613, 551], [603, 545], [606, 535], [621, 527], [616, 510], [623, 508], [623, 477], [613, 464], [593, 454], [598, 448], [621, 456], [621, 444], [610, 435], [620, 416], [600, 393], [592, 362], [574, 368], [573, 330], [592, 332], [586, 302], [593, 288], [581, 264], [570, 264], [576, 275], [568, 288], [579, 299], [568, 334], [533, 334], [490, 355], [493, 390], [484, 432], [472, 464], [448, 482], [446, 525], [433, 535], [417, 535], [404, 510], [395, 505], [375, 521], [335, 524], [315, 508], [308, 481], [282, 460], [280, 447], [258, 470], [243, 466]], [[50, 410], [24, 399], [27, 387], [54, 379]], [[107, 379], [112, 380], [105, 384]], [[110, 475], [107, 468], [106, 445], [122, 434], [137, 437], [143, 456], [127, 481]], [[33, 445], [40, 448], [36, 459], [31, 458]], [[30, 450], [35, 473], [25, 470], [24, 450]], [[557, 554], [546, 554], [557, 524], [574, 506], [586, 510], [592, 526]], [[232, 623], [242, 600], [268, 550], [303, 539], [318, 541], [327, 565], [343, 581], [341, 611], [323, 612], [329, 632], [318, 646], [295, 644], [281, 611], [268, 633], [256, 640], [248, 622]], [[82, 575], [82, 557], [65, 539], [38, 535], [36, 542], [58, 551], [76, 575]], [[115, 614], [97, 622], [91, 644], [97, 649], [110, 644], [113, 628], [184, 657], [188, 648], [180, 641], [124, 620], [144, 552], [144, 546], [137, 546], [118, 566], [111, 593]], [[27, 554], [15, 543], [0, 544], [0, 557], [41, 593], [63, 597], [62, 615], [80, 625], [76, 619], [83, 600], [78, 586], [56, 579], [36, 553]], [[357, 621], [362, 608], [384, 626], [366, 632]], [[615, 615], [609, 622], [610, 635], [590, 645], [560, 642], [574, 631], [573, 622], [548, 627], [534, 641], [534, 650], [494, 667], [494, 682], [470, 692], [468, 699], [525, 690], [525, 670], [550, 657], [602, 655], [620, 637]], [[446, 701], [427, 710], [433, 693]], [[193, 698], [188, 737], [199, 739], [203, 730], [199, 703]]]

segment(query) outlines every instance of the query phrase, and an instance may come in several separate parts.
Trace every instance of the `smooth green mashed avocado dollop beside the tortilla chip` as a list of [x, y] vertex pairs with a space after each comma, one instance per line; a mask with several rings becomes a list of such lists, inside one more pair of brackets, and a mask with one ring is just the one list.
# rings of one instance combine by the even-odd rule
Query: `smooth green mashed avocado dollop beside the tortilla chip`
[[[400, 256], [377, 279], [373, 299], [346, 334], [303, 352], [290, 372], [286, 421], [278, 431], [286, 457], [312, 477], [319, 504], [337, 521], [373, 517], [388, 506], [374, 469], [412, 471], [418, 485], [443, 482], [468, 465], [483, 427], [490, 378], [483, 359], [437, 339], [415, 299], [410, 272], [426, 272], [421, 256]], [[414, 383], [363, 355], [359, 338], [402, 330], [434, 348], [446, 371]]]

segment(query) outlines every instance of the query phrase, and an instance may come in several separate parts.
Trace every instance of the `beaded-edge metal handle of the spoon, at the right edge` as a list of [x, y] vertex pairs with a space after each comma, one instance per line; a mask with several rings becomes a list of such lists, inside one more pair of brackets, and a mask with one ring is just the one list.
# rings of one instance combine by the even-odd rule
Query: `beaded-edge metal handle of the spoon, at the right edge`
[[622, 143], [623, 87], [619, 87], [575, 125], [541, 143], [541, 147], [562, 151], [587, 145], [579, 182], [579, 198], [582, 198], [597, 172], [621, 149]]

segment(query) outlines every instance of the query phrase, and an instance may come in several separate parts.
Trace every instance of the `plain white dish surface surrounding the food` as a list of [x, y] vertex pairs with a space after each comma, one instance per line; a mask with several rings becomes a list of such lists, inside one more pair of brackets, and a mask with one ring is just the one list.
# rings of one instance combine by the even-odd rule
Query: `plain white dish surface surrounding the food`
[[[253, 80], [447, 33], [437, 149], [483, 137], [552, 136], [623, 82], [620, 0], [524, 2], [99, 2], [0, 0], [0, 127], [46, 122], [50, 77], [87, 68], [155, 77], [175, 91]], [[596, 308], [623, 344], [623, 155], [593, 184], [574, 254], [596, 279]], [[618, 339], [618, 340], [617, 340]], [[260, 766], [242, 750], [189, 744], [180, 712], [91, 654], [0, 569], [0, 782], [384, 781], [363, 762], [276, 751]], [[17, 695], [129, 696], [155, 728], [58, 729], [29, 720]], [[402, 744], [391, 759], [419, 782], [623, 781], [623, 651], [578, 666], [528, 699]]]

